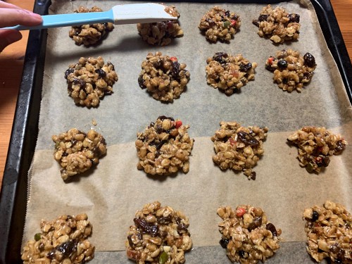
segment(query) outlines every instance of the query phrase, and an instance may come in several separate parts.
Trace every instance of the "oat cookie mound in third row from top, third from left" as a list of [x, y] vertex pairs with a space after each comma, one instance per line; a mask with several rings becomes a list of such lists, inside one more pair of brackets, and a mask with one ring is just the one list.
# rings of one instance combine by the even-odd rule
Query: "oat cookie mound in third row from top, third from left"
[[263, 140], [268, 127], [241, 127], [238, 122], [220, 122], [220, 130], [215, 131], [213, 162], [221, 170], [243, 171], [249, 180], [256, 180], [254, 166], [263, 155]]

